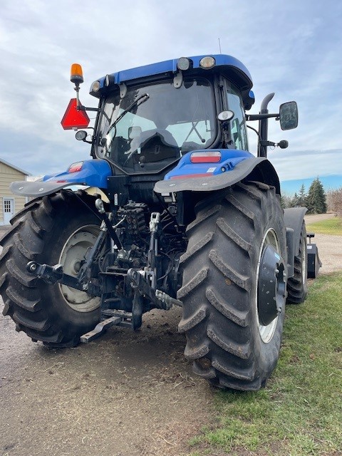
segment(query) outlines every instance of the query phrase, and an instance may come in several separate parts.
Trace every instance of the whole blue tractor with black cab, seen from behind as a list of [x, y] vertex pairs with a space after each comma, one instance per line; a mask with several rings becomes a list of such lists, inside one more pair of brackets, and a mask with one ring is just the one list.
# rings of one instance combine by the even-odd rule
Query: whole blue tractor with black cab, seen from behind
[[[62, 124], [91, 160], [39, 182], [1, 241], [4, 314], [51, 347], [137, 330], [151, 309], [182, 306], [195, 373], [220, 388], [259, 390], [276, 366], [285, 303], [306, 297], [306, 209], [283, 211], [267, 160], [269, 118], [296, 128], [295, 102], [259, 114], [252, 78], [232, 56], [178, 58], [108, 74]], [[81, 115], [81, 120], [80, 120]], [[258, 137], [249, 152], [247, 121]], [[90, 132], [90, 133], [89, 133]], [[287, 147], [287, 141], [279, 142]]]

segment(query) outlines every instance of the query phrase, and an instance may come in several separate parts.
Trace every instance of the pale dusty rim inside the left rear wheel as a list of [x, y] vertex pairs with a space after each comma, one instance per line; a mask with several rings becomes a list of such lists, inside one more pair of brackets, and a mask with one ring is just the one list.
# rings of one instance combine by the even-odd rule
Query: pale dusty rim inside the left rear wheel
[[[100, 232], [96, 225], [86, 225], [76, 229], [64, 244], [59, 258], [65, 274], [76, 277], [88, 249], [93, 247]], [[91, 312], [100, 306], [100, 298], [90, 296], [85, 291], [66, 285], [59, 285], [61, 294], [71, 309], [78, 312]]]

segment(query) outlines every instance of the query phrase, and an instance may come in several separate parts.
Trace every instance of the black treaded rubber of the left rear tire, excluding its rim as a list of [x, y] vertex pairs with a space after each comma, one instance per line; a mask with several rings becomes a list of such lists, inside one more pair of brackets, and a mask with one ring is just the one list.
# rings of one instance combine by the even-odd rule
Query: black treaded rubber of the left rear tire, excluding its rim
[[58, 229], [64, 229], [67, 220], [77, 223], [79, 217], [83, 220], [91, 217], [95, 223], [93, 214], [86, 212], [86, 204], [80, 204], [73, 192], [49, 195], [26, 204], [11, 219], [12, 227], [0, 241], [3, 314], [11, 316], [17, 331], [24, 331], [33, 341], [42, 341], [50, 347], [75, 346], [80, 336], [98, 323], [95, 311], [89, 317], [80, 314], [73, 321], [68, 320], [67, 314], [61, 317], [60, 309], [53, 307], [53, 300], [61, 299], [55, 298], [58, 289], [26, 271], [29, 260], [46, 262], [46, 254], [51, 252], [49, 239], [58, 236]]

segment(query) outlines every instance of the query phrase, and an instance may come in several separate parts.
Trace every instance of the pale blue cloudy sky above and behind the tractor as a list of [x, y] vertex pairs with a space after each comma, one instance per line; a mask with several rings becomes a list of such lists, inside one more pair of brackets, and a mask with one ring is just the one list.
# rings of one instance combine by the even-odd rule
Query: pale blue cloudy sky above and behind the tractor
[[270, 140], [289, 140], [269, 152], [281, 180], [342, 177], [341, 24], [336, 0], [1, 0], [0, 157], [33, 175], [88, 158], [88, 145], [61, 127], [75, 96], [71, 63], [83, 66], [83, 105], [95, 106], [88, 89], [100, 76], [219, 53], [220, 38], [222, 53], [252, 74], [251, 113], [270, 92], [270, 110], [299, 105], [296, 130], [269, 122]]

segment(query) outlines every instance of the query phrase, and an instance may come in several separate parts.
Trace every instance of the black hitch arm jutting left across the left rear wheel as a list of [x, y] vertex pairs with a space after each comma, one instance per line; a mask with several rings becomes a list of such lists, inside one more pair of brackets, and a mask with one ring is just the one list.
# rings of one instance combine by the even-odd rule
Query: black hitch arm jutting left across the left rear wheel
[[49, 266], [48, 264], [39, 264], [36, 263], [36, 261], [29, 261], [28, 264], [26, 264], [26, 269], [30, 274], [37, 276], [39, 279], [43, 279], [48, 284], [56, 284], [56, 282], [58, 282], [58, 284], [71, 286], [71, 288], [76, 290], [86, 291], [93, 296], [101, 296], [100, 287], [98, 285], [92, 284], [91, 281], [89, 284], [80, 284], [77, 277], [63, 273], [63, 266], [61, 264]]

